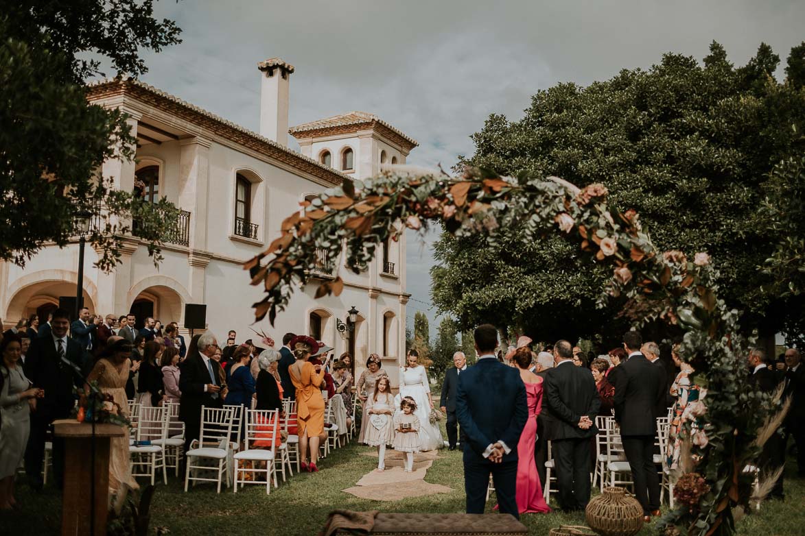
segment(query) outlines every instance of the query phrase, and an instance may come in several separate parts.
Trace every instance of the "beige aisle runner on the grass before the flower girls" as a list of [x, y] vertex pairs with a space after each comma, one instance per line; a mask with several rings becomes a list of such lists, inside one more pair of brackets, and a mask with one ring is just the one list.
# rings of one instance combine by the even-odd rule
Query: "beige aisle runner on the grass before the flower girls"
[[[378, 452], [361, 452], [362, 456], [378, 457]], [[449, 493], [452, 489], [444, 485], [430, 484], [423, 479], [433, 460], [439, 458], [437, 451], [417, 452], [414, 455], [414, 472], [403, 471], [405, 454], [394, 450], [386, 450], [386, 470], [378, 473], [372, 470], [366, 473], [357, 485], [344, 489], [346, 493], [372, 499], [374, 501], [399, 501], [407, 497], [422, 497], [435, 493]]]

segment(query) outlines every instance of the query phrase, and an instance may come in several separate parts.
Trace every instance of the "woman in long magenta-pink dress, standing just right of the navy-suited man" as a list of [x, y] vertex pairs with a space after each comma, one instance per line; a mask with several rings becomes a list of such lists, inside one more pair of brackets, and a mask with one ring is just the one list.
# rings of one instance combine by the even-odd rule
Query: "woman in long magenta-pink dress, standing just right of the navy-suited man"
[[520, 513], [548, 513], [551, 508], [543, 498], [543, 486], [539, 482], [537, 464], [534, 461], [534, 446], [537, 440], [537, 415], [543, 407], [543, 378], [530, 372], [531, 350], [519, 348], [512, 359], [526, 385], [528, 420], [517, 444], [517, 507]]

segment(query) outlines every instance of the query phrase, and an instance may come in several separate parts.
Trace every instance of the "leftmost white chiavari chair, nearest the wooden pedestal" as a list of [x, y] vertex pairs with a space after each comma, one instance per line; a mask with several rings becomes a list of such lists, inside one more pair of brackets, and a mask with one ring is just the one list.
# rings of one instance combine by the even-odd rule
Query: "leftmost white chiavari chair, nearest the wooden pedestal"
[[[159, 468], [162, 468], [162, 479], [167, 484], [165, 451], [161, 444], [154, 443], [167, 436], [166, 412], [165, 407], [141, 406], [137, 413], [136, 443], [129, 447], [131, 476], [151, 477], [151, 485], [154, 485]], [[144, 468], [145, 471], [141, 472], [139, 468]]]

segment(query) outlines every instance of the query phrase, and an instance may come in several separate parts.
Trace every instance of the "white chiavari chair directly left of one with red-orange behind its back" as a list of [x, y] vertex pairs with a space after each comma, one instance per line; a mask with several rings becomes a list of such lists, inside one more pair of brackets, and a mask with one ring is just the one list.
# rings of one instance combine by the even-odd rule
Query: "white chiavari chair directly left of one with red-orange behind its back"
[[[221, 493], [221, 481], [225, 479], [229, 445], [232, 437], [233, 406], [221, 409], [201, 407], [201, 430], [199, 440], [193, 440], [190, 450], [185, 452], [187, 468], [184, 474], [184, 491], [188, 491], [190, 481], [216, 482], [217, 493]], [[217, 467], [200, 464], [204, 460], [213, 460]], [[191, 476], [193, 472], [216, 471], [215, 478]]]

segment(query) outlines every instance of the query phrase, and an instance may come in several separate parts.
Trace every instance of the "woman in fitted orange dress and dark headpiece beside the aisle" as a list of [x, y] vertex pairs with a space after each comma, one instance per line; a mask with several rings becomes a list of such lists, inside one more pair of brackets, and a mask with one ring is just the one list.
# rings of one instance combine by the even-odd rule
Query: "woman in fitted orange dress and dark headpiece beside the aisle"
[[[297, 335], [291, 339], [291, 351], [296, 362], [288, 367], [291, 382], [296, 388], [296, 429], [299, 436], [299, 467], [302, 471], [316, 473], [319, 459], [320, 436], [324, 434], [324, 398], [321, 384], [324, 370], [321, 365], [313, 366], [308, 359], [319, 350], [319, 343], [307, 335]], [[310, 465], [308, 465], [308, 445], [310, 446]]]

